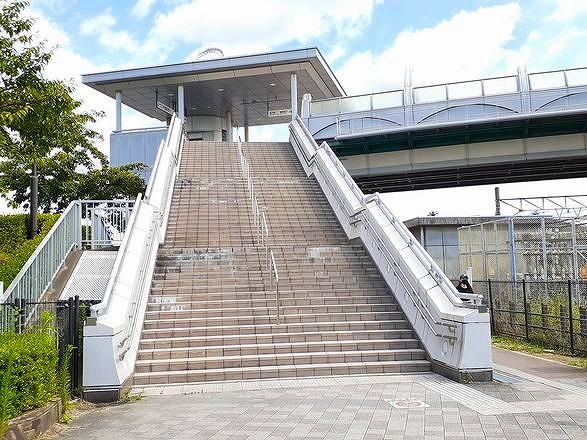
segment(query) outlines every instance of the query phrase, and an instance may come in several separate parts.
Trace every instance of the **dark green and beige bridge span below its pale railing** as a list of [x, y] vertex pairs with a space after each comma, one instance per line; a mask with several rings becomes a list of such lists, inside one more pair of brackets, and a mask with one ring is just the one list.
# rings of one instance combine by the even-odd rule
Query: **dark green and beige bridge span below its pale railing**
[[587, 115], [339, 136], [329, 145], [365, 192], [587, 177]]

